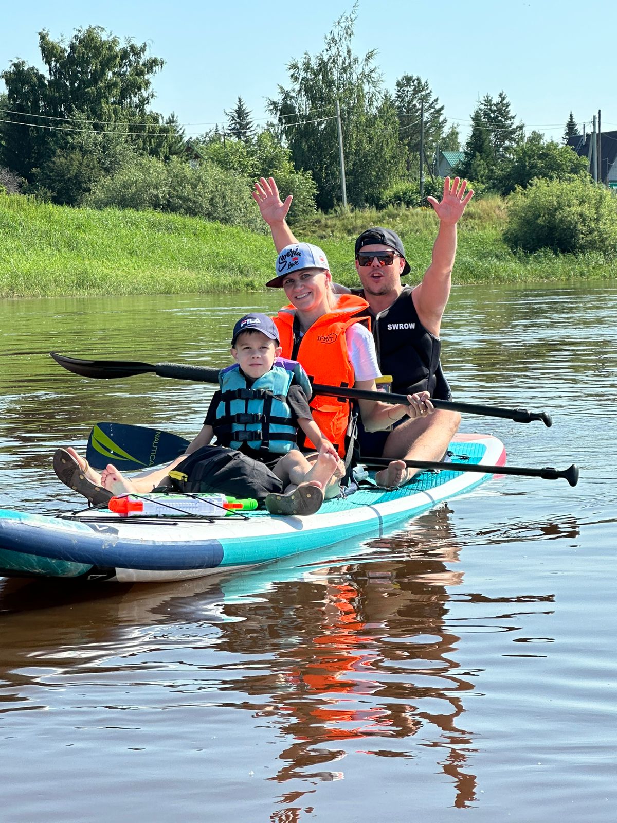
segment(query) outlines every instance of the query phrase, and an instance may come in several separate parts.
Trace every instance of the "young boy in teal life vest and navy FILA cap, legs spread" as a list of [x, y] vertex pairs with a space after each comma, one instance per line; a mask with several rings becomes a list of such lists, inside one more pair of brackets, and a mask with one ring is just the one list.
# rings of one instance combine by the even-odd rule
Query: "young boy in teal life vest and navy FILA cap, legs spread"
[[[275, 481], [274, 491], [265, 497], [271, 514], [314, 514], [325, 489], [343, 476], [344, 467], [332, 443], [313, 421], [308, 407], [310, 384], [304, 370], [292, 361], [275, 362], [281, 346], [276, 326], [266, 314], [246, 314], [239, 319], [231, 355], [235, 364], [220, 372], [220, 389], [211, 400], [202, 430], [173, 463], [132, 479], [109, 464], [99, 476], [75, 449], [58, 449], [53, 467], [60, 480], [89, 498], [93, 485], [102, 486], [109, 496], [144, 494], [169, 483], [169, 472], [186, 469], [190, 479], [200, 458], [207, 461], [213, 451], [220, 457], [220, 449], [206, 449], [216, 435], [217, 444], [264, 463], [281, 482], [280, 492]], [[295, 448], [298, 428], [318, 450], [313, 462]]]

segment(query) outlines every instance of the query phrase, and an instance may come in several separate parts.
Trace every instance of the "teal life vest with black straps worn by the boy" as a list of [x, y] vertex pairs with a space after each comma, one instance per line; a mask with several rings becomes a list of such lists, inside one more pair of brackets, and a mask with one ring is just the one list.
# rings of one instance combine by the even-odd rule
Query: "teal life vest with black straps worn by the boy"
[[[278, 361], [276, 361], [278, 362]], [[308, 377], [299, 363], [281, 360], [248, 388], [246, 378], [235, 364], [219, 373], [220, 403], [213, 426], [218, 442], [231, 449], [247, 444], [251, 449], [267, 449], [286, 454], [295, 449], [295, 425], [287, 403], [294, 380], [310, 397]], [[285, 366], [289, 365], [289, 368]]]

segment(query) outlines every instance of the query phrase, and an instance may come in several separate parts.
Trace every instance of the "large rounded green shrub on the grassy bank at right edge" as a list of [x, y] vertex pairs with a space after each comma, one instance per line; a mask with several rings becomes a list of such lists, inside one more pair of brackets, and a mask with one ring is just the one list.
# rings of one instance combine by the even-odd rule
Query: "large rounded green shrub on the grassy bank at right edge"
[[536, 252], [617, 253], [617, 198], [581, 174], [572, 180], [536, 179], [508, 198], [506, 243]]

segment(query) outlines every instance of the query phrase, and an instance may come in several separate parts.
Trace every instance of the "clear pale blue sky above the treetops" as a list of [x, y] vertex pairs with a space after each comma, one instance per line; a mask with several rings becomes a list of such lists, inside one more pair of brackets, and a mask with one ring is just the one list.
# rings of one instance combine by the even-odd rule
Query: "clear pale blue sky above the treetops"
[[[321, 51], [336, 18], [352, 7], [352, 0], [29, 0], [13, 4], [0, 29], [0, 71], [16, 58], [43, 68], [41, 29], [70, 40], [77, 28], [103, 26], [165, 60], [152, 108], [175, 113], [187, 137], [226, 123], [225, 109], [239, 96], [260, 126], [269, 119], [267, 98], [288, 83], [290, 60]], [[500, 91], [526, 133], [559, 141], [570, 111], [582, 131], [598, 109], [602, 130], [617, 129], [615, 16], [607, 0], [359, 0], [356, 11], [355, 53], [377, 49], [383, 87], [394, 91], [404, 74], [429, 81], [463, 139], [477, 100]]]

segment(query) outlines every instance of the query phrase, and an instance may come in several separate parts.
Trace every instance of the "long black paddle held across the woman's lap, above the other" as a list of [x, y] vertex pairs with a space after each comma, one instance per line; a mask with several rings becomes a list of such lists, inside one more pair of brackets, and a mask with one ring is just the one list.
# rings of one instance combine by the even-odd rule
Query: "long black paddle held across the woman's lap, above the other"
[[[179, 363], [140, 363], [136, 360], [80, 360], [76, 357], [58, 355], [55, 351], [49, 354], [64, 369], [80, 374], [81, 377], [99, 379], [116, 379], [132, 377], [135, 374], [153, 372], [159, 377], [173, 377], [179, 380], [196, 380], [202, 383], [219, 382], [219, 370], [208, 366], [182, 365]], [[326, 394], [335, 398], [350, 398], [353, 400], [381, 400], [386, 403], [406, 403], [404, 394], [387, 392], [369, 392], [360, 388], [341, 388], [319, 383], [313, 384], [316, 394]], [[553, 425], [553, 418], [547, 412], [527, 412], [527, 409], [506, 409], [498, 406], [481, 406], [476, 403], [459, 403], [451, 400], [436, 400], [431, 398], [433, 405], [438, 409], [448, 409], [451, 412], [467, 412], [468, 414], [484, 415], [487, 417], [506, 417], [517, 423], [530, 423], [532, 420], [541, 420], [545, 425]]]

